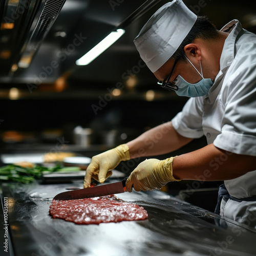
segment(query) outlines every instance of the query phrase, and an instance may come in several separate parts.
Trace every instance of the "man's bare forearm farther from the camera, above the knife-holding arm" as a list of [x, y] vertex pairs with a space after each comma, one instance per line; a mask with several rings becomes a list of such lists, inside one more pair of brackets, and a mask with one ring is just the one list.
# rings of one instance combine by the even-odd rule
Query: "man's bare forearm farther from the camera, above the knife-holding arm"
[[127, 143], [131, 159], [167, 154], [184, 146], [192, 139], [178, 134], [172, 122], [167, 122], [146, 131]]

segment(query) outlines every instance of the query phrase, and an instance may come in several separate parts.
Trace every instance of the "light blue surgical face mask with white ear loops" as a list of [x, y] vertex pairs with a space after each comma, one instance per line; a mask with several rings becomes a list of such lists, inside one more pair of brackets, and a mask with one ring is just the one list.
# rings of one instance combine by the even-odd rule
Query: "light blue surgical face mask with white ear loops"
[[[185, 56], [186, 57], [186, 56]], [[191, 61], [186, 57], [186, 59], [190, 62], [190, 64], [195, 68], [195, 66], [191, 63]], [[175, 79], [175, 85], [179, 88], [178, 91], [175, 91], [179, 96], [186, 97], [199, 97], [204, 96], [208, 93], [212, 84], [214, 84], [214, 80], [210, 78], [204, 78], [202, 72], [202, 65], [200, 61], [201, 73], [196, 69], [199, 75], [203, 78], [198, 83], [189, 83], [184, 80], [180, 75]]]

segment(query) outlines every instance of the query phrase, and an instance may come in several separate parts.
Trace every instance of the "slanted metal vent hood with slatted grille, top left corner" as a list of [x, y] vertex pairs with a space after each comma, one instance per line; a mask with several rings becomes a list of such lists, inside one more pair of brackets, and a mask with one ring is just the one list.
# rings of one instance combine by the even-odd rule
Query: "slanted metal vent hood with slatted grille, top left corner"
[[0, 1], [0, 74], [28, 68], [66, 0]]

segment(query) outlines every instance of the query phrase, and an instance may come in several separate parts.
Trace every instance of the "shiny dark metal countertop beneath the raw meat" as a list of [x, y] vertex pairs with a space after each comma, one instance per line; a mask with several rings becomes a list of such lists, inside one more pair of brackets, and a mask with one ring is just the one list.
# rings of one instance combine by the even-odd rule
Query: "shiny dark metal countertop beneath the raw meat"
[[[8, 200], [9, 255], [256, 255], [255, 231], [162, 191], [116, 195], [144, 207], [148, 219], [143, 221], [78, 225], [51, 218], [52, 198], [73, 186], [82, 188], [81, 181], [2, 184], [2, 205]], [[3, 223], [3, 211], [0, 217]], [[4, 233], [0, 235], [3, 239]]]

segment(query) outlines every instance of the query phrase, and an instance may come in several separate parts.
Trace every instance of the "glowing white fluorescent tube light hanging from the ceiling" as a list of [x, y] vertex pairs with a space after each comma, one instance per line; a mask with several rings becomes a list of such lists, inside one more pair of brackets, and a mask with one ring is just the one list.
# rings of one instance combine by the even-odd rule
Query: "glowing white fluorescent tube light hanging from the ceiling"
[[124, 29], [117, 29], [116, 31], [112, 31], [108, 36], [100, 41], [98, 45], [96, 45], [88, 53], [84, 54], [80, 59], [76, 60], [76, 65], [83, 66], [91, 63], [102, 52], [104, 52], [111, 45], [113, 45], [114, 42], [124, 34], [124, 32]]

